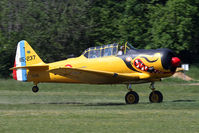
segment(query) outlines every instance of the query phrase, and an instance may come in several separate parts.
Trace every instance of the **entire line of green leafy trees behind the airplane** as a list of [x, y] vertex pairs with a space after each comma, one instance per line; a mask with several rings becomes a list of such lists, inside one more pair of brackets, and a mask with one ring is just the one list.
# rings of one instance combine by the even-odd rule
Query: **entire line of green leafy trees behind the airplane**
[[0, 75], [10, 76], [20, 40], [44, 62], [128, 41], [170, 48], [191, 63], [199, 54], [198, 22], [198, 0], [1, 0]]

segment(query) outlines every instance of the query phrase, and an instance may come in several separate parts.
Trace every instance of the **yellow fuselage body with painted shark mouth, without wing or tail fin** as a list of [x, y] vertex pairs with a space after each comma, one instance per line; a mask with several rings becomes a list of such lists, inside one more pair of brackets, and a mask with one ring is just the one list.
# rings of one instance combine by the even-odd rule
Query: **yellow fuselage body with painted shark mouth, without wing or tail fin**
[[[87, 58], [84, 55], [81, 55], [80, 57], [49, 63], [47, 64], [49, 65], [47, 70], [28, 71], [27, 79], [28, 81], [33, 82], [84, 83], [82, 81], [74, 80], [67, 76], [57, 75], [48, 71], [58, 67], [74, 67], [114, 73], [147, 73], [150, 75], [148, 79], [137, 81], [132, 80], [132, 82], [151, 82], [152, 80], [169, 77], [174, 73], [170, 68], [165, 69], [163, 67], [162, 64], [165, 60], [162, 58], [166, 58], [164, 56], [167, 56], [164, 55], [164, 50], [152, 50], [151, 52], [129, 51], [125, 55], [105, 56], [99, 58]], [[104, 83], [106, 84], [106, 82]]]

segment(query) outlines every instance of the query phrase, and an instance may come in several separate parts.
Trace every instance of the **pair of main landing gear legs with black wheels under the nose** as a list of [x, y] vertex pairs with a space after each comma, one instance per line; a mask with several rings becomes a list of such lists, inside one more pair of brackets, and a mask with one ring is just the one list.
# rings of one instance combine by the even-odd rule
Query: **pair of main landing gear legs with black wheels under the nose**
[[[132, 90], [131, 84], [127, 86], [129, 92], [125, 96], [126, 104], [137, 104], [139, 102], [139, 95]], [[163, 101], [163, 95], [160, 91], [156, 91], [154, 87], [154, 82], [151, 83], [150, 89], [152, 92], [149, 95], [149, 101], [151, 103], [160, 103]]]

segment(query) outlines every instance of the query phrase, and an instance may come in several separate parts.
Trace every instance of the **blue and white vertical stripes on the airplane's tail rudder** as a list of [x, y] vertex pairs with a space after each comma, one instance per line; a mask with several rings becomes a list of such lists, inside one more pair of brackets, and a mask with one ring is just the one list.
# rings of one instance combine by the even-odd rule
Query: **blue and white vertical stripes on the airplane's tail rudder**
[[[25, 41], [20, 41], [17, 45], [17, 52], [15, 57], [16, 67], [26, 66], [26, 55], [25, 55]], [[19, 81], [27, 81], [27, 70], [17, 69], [16, 78]]]

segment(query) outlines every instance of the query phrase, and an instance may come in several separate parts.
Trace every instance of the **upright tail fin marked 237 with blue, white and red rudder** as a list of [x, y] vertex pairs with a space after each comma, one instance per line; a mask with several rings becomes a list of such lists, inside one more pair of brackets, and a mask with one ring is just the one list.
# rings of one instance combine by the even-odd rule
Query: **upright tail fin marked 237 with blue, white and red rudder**
[[36, 54], [27, 41], [22, 40], [17, 45], [15, 56], [15, 64], [13, 69], [13, 78], [19, 81], [27, 81], [27, 69], [22, 69], [26, 66], [44, 65], [45, 63]]

